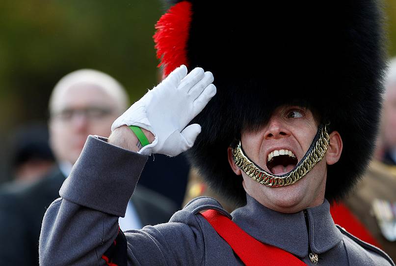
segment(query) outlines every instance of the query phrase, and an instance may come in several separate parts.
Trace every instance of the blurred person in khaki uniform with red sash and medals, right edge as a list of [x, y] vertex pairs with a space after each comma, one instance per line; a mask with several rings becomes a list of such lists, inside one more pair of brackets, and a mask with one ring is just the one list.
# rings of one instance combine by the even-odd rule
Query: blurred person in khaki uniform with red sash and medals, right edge
[[[380, 135], [375, 157], [363, 179], [343, 203], [343, 217], [334, 217], [346, 230], [361, 238], [373, 238], [389, 256], [396, 260], [396, 59], [390, 61], [385, 80]], [[348, 217], [348, 218], [346, 218]], [[359, 224], [351, 223], [357, 219]], [[356, 232], [355, 230], [360, 232]], [[367, 230], [367, 232], [365, 232]], [[360, 235], [361, 234], [361, 235]], [[375, 243], [376, 242], [376, 243]]]

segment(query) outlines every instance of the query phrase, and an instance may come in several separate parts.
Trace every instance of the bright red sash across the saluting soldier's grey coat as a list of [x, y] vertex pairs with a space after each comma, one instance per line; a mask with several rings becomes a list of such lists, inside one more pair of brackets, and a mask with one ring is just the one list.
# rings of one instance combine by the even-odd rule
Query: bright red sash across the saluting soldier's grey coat
[[208, 210], [202, 215], [247, 266], [306, 266], [291, 253], [254, 239], [216, 210]]

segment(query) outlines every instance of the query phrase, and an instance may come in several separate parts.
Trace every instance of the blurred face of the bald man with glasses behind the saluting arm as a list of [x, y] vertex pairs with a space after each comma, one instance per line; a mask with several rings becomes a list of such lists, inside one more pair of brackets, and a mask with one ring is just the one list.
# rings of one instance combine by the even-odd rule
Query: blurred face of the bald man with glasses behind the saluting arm
[[50, 142], [58, 161], [74, 164], [87, 136], [108, 137], [125, 105], [96, 84], [78, 83], [59, 90], [50, 103]]

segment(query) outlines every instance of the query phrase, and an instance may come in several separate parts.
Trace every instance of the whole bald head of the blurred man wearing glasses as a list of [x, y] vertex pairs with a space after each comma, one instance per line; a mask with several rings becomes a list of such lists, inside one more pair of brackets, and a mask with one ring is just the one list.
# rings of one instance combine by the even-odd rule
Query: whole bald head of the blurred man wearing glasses
[[81, 69], [63, 77], [49, 103], [50, 141], [57, 159], [74, 164], [87, 136], [109, 136], [112, 122], [128, 103], [121, 84], [103, 72]]

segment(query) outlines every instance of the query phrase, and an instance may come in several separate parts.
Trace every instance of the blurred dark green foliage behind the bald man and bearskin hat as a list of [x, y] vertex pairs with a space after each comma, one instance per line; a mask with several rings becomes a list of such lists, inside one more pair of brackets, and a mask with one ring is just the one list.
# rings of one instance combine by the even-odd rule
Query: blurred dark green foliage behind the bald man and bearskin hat
[[[135, 101], [157, 84], [154, 24], [159, 0], [3, 0], [0, 9], [0, 173], [12, 129], [45, 121], [56, 82], [79, 68], [104, 71]], [[396, 55], [396, 1], [385, 2], [389, 54]], [[8, 179], [0, 174], [0, 181]]]

